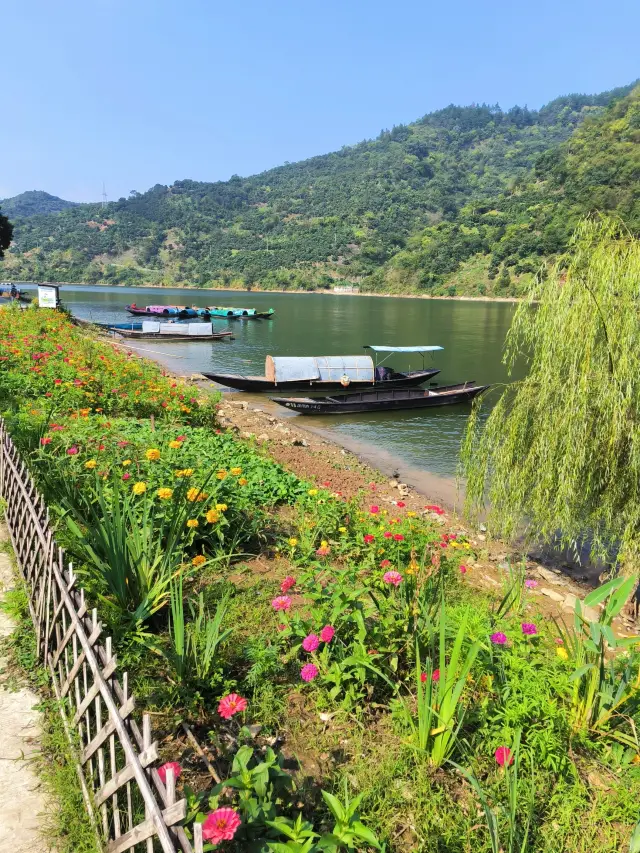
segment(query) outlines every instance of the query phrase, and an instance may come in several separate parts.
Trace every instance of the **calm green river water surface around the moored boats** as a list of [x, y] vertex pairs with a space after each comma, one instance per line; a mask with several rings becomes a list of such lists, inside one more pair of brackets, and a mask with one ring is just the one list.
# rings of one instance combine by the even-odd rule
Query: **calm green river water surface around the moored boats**
[[[265, 356], [355, 355], [364, 344], [444, 347], [426, 356], [427, 365], [441, 369], [436, 379], [452, 384], [475, 379], [483, 384], [507, 380], [501, 362], [505, 335], [514, 312], [509, 303], [457, 302], [422, 299], [380, 299], [329, 294], [244, 293], [90, 287], [65, 285], [61, 299], [83, 319], [100, 323], [129, 319], [125, 305], [234, 305], [274, 308], [272, 320], [214, 322], [231, 328], [234, 341], [193, 343], [135, 342], [136, 347], [181, 373], [264, 373]], [[419, 355], [397, 355], [385, 362], [397, 369], [422, 367]], [[302, 396], [302, 394], [299, 394]], [[279, 410], [284, 417], [286, 409]], [[435, 474], [455, 474], [458, 450], [469, 406], [447, 406], [424, 412], [396, 412], [311, 417], [291, 415], [301, 425], [322, 427], [407, 465]], [[370, 455], [370, 454], [369, 454]]]

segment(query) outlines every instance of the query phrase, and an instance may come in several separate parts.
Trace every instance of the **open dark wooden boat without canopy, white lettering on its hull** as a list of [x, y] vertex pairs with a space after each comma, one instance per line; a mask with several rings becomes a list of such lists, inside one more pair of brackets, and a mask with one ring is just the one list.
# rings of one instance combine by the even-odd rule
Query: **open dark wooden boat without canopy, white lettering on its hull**
[[305, 415], [343, 415], [352, 412], [397, 412], [402, 409], [431, 409], [467, 403], [486, 391], [488, 385], [473, 380], [441, 388], [380, 389], [336, 394], [335, 397], [271, 397], [274, 403]]

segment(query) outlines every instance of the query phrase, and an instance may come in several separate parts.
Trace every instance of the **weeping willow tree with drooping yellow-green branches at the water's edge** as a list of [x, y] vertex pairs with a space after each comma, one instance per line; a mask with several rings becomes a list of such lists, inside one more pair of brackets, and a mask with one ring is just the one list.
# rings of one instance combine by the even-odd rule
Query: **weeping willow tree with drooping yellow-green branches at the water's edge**
[[[528, 533], [592, 556], [640, 552], [640, 242], [581, 221], [567, 255], [515, 313], [505, 363], [528, 362], [462, 448], [467, 508], [493, 533]], [[486, 404], [485, 404], [486, 405]]]

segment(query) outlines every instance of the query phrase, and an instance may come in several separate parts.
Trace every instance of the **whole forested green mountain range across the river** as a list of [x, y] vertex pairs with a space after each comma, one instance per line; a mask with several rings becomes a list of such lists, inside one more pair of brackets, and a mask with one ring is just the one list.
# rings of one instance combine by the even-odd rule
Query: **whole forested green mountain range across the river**
[[[630, 91], [540, 110], [450, 106], [249, 178], [177, 181], [105, 207], [15, 217], [3, 275], [511, 292], [514, 273], [565, 245], [569, 220], [557, 205], [571, 216], [595, 203], [637, 218], [639, 94]], [[469, 286], [461, 263], [477, 268]]]

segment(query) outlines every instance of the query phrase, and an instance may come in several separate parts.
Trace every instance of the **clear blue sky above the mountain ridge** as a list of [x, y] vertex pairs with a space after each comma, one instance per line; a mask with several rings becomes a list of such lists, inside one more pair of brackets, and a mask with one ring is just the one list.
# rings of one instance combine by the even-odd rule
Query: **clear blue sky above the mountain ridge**
[[0, 25], [0, 198], [225, 180], [640, 76], [638, 0], [15, 0]]

